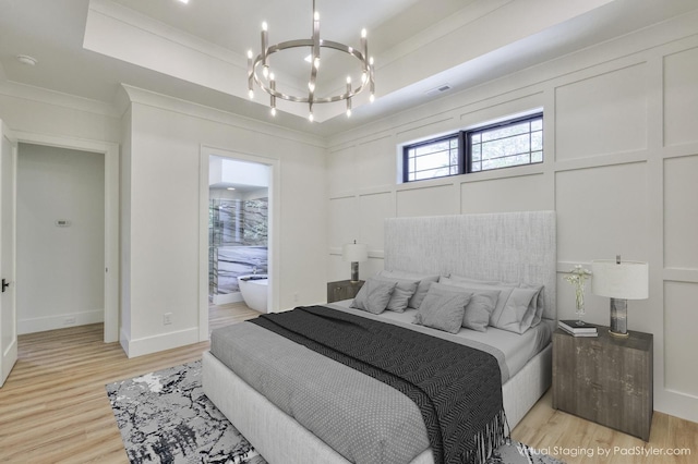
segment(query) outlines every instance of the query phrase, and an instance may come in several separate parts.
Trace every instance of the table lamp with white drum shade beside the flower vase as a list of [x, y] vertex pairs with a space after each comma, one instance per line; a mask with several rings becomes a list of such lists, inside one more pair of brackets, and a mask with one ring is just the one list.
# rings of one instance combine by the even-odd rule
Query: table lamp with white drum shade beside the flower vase
[[591, 292], [611, 298], [611, 328], [614, 337], [628, 337], [628, 300], [646, 300], [649, 293], [647, 262], [613, 259], [591, 261]]

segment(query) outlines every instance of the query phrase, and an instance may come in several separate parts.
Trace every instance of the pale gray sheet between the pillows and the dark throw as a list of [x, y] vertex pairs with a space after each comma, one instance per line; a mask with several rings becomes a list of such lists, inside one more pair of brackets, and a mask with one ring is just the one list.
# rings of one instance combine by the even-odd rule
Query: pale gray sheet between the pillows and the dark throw
[[555, 328], [555, 321], [551, 319], [541, 319], [541, 323], [530, 328], [526, 332], [518, 334], [509, 332], [507, 330], [496, 329], [494, 327], [488, 327], [486, 332], [478, 332], [461, 328], [456, 334], [450, 334], [436, 329], [430, 329], [429, 327], [418, 326], [411, 323], [417, 314], [417, 309], [408, 308], [405, 313], [396, 313], [392, 310], [385, 310], [380, 315], [372, 315], [370, 313], [350, 308], [352, 300], [344, 300], [328, 304], [329, 307], [342, 309], [358, 316], [369, 317], [375, 320], [388, 320], [398, 322], [408, 329], [418, 330], [420, 332], [435, 334], [447, 340], [453, 339], [469, 339], [476, 342], [480, 342], [500, 350], [504, 354], [504, 362], [508, 367], [508, 375], [503, 377], [508, 379], [515, 376], [533, 356], [540, 353], [552, 339], [552, 333]]

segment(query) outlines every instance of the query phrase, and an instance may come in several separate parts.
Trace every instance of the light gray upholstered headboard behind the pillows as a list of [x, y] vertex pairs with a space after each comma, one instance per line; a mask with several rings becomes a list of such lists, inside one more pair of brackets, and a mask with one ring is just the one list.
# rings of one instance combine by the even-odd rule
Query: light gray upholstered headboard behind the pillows
[[555, 211], [390, 218], [385, 269], [539, 283], [556, 318]]

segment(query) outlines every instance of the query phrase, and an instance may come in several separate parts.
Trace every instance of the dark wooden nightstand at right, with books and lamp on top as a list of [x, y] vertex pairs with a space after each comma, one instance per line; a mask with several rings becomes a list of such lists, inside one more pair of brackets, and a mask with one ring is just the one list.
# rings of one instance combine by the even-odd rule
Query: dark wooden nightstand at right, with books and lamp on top
[[650, 439], [653, 412], [652, 334], [615, 338], [553, 333], [553, 407]]

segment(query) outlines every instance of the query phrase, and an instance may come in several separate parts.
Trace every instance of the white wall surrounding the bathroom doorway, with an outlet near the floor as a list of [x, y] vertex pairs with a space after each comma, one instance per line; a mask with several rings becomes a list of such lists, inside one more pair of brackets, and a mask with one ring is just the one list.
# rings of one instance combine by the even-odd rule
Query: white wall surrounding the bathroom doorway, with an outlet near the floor
[[[200, 191], [207, 152], [256, 156], [279, 169], [273, 310], [325, 301], [325, 148], [321, 141], [181, 100], [128, 88], [123, 151], [122, 344], [136, 356], [200, 341]], [[210, 147], [216, 147], [215, 149]], [[202, 156], [205, 159], [202, 163]], [[202, 166], [203, 164], [203, 166]], [[125, 180], [129, 180], [128, 185]], [[203, 187], [208, 190], [208, 183]], [[207, 206], [206, 206], [207, 208]], [[276, 217], [274, 217], [276, 216]], [[128, 242], [128, 243], [127, 243]], [[207, 255], [203, 262], [207, 262]], [[207, 290], [207, 288], [206, 288]], [[171, 313], [165, 326], [163, 315]], [[207, 333], [206, 333], [207, 335]]]

